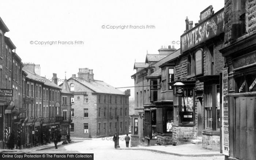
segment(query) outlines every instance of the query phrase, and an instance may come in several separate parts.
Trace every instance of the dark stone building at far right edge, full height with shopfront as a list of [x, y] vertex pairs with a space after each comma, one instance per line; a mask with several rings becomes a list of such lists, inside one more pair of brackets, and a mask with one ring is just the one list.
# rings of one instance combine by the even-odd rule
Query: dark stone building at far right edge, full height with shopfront
[[256, 157], [256, 0], [225, 0], [222, 73], [222, 153], [225, 160]]

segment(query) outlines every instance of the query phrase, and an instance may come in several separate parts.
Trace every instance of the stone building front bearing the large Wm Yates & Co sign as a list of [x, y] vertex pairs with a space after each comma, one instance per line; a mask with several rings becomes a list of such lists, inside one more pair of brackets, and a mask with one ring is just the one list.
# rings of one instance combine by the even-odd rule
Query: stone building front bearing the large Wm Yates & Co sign
[[[203, 148], [220, 148], [219, 81], [224, 59], [219, 49], [224, 38], [223, 12], [221, 9], [211, 14], [194, 27], [186, 19], [189, 23], [181, 41], [188, 43], [181, 45], [181, 56], [175, 62], [174, 79], [184, 84], [184, 94], [181, 98], [174, 96], [173, 144], [202, 142]], [[216, 26], [211, 25], [213, 22]], [[197, 36], [186, 39], [193, 33]]]

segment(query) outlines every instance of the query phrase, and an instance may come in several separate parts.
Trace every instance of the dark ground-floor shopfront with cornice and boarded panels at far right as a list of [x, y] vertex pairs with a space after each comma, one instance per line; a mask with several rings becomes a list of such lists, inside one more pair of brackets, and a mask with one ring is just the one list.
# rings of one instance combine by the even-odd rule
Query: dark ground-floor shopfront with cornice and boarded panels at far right
[[256, 34], [220, 50], [222, 73], [222, 153], [226, 159], [256, 157]]

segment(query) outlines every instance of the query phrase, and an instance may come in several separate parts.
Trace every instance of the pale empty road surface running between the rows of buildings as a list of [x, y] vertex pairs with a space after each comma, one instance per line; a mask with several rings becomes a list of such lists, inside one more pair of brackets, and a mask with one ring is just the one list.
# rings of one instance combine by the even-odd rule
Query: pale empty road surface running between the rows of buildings
[[[152, 151], [143, 151], [140, 149], [130, 150], [126, 149], [125, 141], [122, 141], [123, 136], [120, 136], [120, 149], [114, 149], [114, 142], [112, 137], [105, 138], [92, 138], [92, 139], [75, 139], [74, 143], [67, 145], [58, 144], [58, 149], [54, 146], [48, 149], [42, 149], [35, 151], [34, 148], [31, 150], [26, 149], [15, 150], [15, 152], [3, 152], [3, 153], [94, 153], [94, 160], [150, 160], [150, 159], [161, 159], [161, 160], [223, 160], [224, 156], [210, 156], [210, 157], [187, 157], [187, 156], [175, 156], [163, 153], [157, 153]], [[150, 147], [148, 147], [150, 148]], [[16, 152], [17, 151], [17, 152]], [[185, 152], [185, 151], [184, 151]]]

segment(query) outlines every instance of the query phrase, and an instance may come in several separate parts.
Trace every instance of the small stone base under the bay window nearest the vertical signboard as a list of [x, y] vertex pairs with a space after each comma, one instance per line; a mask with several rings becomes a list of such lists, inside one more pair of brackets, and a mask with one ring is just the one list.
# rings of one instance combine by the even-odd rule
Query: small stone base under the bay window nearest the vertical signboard
[[219, 151], [220, 137], [218, 135], [203, 134], [203, 148]]

